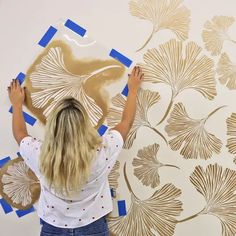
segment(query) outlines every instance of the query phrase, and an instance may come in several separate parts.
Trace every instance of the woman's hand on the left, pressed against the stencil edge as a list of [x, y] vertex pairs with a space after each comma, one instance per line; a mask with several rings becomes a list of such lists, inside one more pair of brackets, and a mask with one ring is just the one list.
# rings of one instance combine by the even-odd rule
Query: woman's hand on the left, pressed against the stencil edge
[[22, 106], [25, 101], [24, 88], [20, 86], [17, 79], [13, 79], [10, 86], [8, 87], [8, 95], [12, 106]]

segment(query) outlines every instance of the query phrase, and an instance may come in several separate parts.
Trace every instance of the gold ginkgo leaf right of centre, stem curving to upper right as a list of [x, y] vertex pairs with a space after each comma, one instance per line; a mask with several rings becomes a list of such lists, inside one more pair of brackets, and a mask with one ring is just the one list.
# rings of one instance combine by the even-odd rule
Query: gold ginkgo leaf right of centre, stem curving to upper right
[[207, 160], [212, 157], [213, 153], [219, 154], [222, 142], [206, 131], [205, 123], [221, 108], [215, 109], [203, 119], [193, 119], [189, 117], [182, 103], [175, 104], [165, 128], [170, 137], [176, 136], [169, 141], [171, 149], [177, 151], [183, 145], [180, 154], [186, 159]]

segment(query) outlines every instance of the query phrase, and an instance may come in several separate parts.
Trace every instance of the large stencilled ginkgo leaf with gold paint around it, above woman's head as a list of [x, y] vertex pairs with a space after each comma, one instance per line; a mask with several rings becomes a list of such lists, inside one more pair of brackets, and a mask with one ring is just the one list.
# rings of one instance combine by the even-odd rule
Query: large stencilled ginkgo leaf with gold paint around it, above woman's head
[[108, 109], [103, 86], [123, 72], [124, 66], [115, 60], [77, 60], [67, 44], [52, 42], [27, 72], [27, 106], [45, 122], [56, 103], [71, 96], [84, 105], [96, 126]]

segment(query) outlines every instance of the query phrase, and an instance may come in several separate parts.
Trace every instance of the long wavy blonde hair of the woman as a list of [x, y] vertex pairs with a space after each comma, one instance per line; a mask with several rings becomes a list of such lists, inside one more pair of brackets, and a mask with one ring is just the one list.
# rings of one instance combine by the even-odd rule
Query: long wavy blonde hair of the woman
[[74, 98], [61, 100], [48, 117], [40, 153], [40, 171], [49, 187], [63, 195], [80, 190], [101, 142], [83, 105]]

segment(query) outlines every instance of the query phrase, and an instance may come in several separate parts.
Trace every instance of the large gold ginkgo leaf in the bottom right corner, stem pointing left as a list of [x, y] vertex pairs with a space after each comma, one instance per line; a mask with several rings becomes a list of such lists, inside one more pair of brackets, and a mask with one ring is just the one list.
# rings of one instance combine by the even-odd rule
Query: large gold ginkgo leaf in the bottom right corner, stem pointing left
[[209, 214], [216, 216], [222, 226], [222, 236], [236, 234], [236, 171], [218, 164], [208, 165], [206, 170], [197, 166], [190, 176], [191, 183], [206, 200], [205, 207], [192, 217]]

